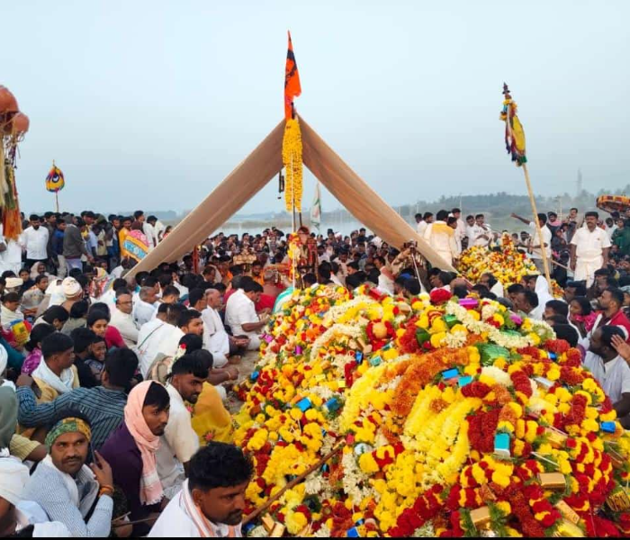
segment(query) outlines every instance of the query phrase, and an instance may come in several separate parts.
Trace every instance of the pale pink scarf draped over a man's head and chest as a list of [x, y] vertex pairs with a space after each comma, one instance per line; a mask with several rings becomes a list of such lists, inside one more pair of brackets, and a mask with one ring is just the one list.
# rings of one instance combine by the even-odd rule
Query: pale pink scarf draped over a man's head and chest
[[157, 476], [156, 453], [159, 448], [159, 437], [153, 435], [148, 428], [147, 421], [142, 416], [144, 401], [147, 399], [148, 389], [155, 381], [139, 383], [130, 392], [125, 406], [125, 424], [131, 437], [138, 445], [142, 456], [142, 478], [140, 479], [140, 502], [146, 506], [157, 504], [164, 498], [162, 482]]

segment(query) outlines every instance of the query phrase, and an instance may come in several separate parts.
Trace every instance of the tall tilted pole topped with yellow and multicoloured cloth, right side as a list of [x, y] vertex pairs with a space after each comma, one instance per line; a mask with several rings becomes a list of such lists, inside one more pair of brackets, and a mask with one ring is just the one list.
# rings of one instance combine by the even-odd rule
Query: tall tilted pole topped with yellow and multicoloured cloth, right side
[[536, 235], [540, 243], [540, 252], [543, 257], [543, 268], [545, 270], [545, 278], [549, 284], [549, 291], [553, 290], [551, 275], [549, 274], [549, 261], [547, 260], [547, 252], [545, 240], [538, 220], [538, 211], [536, 210], [536, 201], [534, 200], [534, 192], [532, 184], [529, 181], [529, 172], [527, 171], [527, 156], [525, 153], [525, 130], [523, 124], [518, 119], [517, 103], [512, 101], [509, 94], [508, 85], [503, 83], [503, 110], [500, 113], [500, 120], [505, 121], [505, 144], [512, 161], [523, 169], [525, 174], [525, 183], [527, 184], [527, 192], [529, 193], [529, 202], [532, 204], [532, 212], [534, 213], [534, 223], [536, 224]]

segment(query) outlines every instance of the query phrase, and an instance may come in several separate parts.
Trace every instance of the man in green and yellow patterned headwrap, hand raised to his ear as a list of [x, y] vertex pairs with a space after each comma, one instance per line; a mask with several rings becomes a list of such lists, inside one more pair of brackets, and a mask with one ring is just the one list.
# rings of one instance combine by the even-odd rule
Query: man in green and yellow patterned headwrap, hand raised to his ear
[[85, 465], [91, 440], [90, 424], [80, 413], [65, 412], [53, 420], [46, 437], [49, 455], [24, 490], [24, 499], [65, 525], [70, 536], [106, 537], [112, 530], [112, 469], [95, 451], [94, 464]]

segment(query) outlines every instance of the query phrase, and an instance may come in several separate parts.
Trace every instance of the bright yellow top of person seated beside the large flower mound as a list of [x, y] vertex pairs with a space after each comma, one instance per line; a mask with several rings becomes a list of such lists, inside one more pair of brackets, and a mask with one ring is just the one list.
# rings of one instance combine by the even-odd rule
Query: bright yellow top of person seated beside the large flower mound
[[193, 407], [192, 425], [201, 446], [207, 446], [211, 442], [232, 442], [232, 417], [211, 383], [203, 383], [202, 393]]

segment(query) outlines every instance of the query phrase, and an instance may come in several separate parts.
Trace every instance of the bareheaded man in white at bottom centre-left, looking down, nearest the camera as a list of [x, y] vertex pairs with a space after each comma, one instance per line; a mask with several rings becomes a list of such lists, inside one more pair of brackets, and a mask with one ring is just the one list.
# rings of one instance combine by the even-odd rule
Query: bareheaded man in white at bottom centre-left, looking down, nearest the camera
[[241, 537], [251, 460], [232, 445], [212, 443], [190, 461], [188, 480], [157, 518], [149, 538]]

